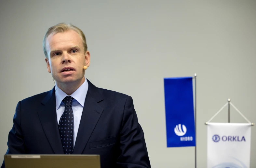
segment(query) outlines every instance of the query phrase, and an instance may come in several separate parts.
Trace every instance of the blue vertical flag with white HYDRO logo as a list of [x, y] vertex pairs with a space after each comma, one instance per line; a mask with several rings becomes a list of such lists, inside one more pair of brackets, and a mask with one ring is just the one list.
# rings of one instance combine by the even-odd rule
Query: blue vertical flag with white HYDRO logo
[[192, 80], [164, 78], [167, 147], [195, 146]]

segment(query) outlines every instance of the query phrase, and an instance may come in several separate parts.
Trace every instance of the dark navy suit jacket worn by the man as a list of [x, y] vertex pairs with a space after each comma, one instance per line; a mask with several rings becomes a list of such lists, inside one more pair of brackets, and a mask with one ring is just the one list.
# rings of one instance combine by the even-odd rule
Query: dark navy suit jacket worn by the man
[[[7, 154], [64, 154], [54, 89], [18, 103]], [[99, 154], [101, 168], [150, 168], [132, 98], [88, 81], [74, 154]]]

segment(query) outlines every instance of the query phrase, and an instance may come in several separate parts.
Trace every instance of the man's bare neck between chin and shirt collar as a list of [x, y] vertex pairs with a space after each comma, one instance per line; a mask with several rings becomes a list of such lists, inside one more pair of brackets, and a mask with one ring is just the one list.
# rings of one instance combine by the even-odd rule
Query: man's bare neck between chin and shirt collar
[[85, 82], [85, 78], [83, 78], [80, 81], [76, 81], [68, 84], [59, 83], [56, 81], [56, 84], [67, 95], [72, 95], [84, 82]]

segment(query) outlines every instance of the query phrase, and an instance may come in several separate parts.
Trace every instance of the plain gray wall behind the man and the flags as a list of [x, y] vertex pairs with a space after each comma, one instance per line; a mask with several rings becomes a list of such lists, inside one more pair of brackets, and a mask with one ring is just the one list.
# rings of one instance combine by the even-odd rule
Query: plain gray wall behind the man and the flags
[[[50, 26], [73, 23], [91, 53], [86, 77], [132, 96], [152, 167], [194, 167], [194, 147], [167, 148], [164, 77], [197, 73], [197, 164], [207, 165], [204, 122], [227, 101], [256, 122], [256, 1], [0, 2], [0, 153], [18, 101], [52, 89], [42, 50]], [[226, 122], [227, 108], [213, 121]], [[231, 122], [246, 122], [232, 108]], [[251, 167], [256, 167], [252, 127]]]

